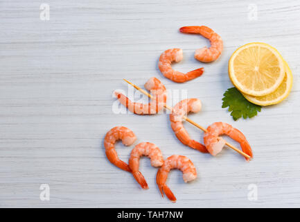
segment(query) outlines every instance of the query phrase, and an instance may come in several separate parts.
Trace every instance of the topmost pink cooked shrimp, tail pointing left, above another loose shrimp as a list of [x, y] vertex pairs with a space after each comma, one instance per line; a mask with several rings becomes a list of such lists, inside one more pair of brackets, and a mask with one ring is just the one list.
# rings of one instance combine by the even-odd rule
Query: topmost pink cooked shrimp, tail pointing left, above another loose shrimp
[[199, 60], [200, 62], [213, 62], [221, 55], [223, 50], [223, 40], [220, 35], [215, 33], [211, 28], [207, 26], [185, 26], [180, 28], [179, 31], [182, 33], [200, 34], [211, 42], [211, 47], [209, 49], [204, 47], [195, 51], [196, 60]]

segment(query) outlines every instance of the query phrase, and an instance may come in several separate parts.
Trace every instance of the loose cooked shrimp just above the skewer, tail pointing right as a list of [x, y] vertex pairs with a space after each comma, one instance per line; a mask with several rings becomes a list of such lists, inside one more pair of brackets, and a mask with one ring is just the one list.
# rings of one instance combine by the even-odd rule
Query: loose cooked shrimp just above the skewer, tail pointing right
[[159, 57], [159, 70], [166, 78], [169, 78], [170, 80], [173, 80], [177, 83], [184, 83], [203, 74], [203, 68], [189, 71], [187, 74], [183, 74], [180, 71], [173, 70], [171, 67], [171, 63], [180, 62], [182, 58], [182, 49], [168, 49], [164, 51], [164, 53], [162, 53]]

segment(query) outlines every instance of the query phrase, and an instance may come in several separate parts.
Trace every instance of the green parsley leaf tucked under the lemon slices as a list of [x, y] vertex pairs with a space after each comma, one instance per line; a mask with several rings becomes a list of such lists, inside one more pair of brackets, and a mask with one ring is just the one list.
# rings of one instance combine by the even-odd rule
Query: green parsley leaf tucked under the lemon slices
[[222, 108], [229, 107], [228, 111], [231, 112], [234, 121], [240, 119], [240, 117], [244, 119], [247, 119], [247, 117], [252, 118], [257, 115], [257, 111], [261, 112], [261, 105], [255, 105], [247, 101], [236, 87], [227, 89], [223, 96]]

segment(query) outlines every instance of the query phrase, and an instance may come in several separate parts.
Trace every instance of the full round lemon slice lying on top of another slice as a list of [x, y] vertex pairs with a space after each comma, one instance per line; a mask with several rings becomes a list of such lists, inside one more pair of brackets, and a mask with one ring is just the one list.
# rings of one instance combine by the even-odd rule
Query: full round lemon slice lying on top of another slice
[[228, 69], [233, 85], [252, 96], [274, 92], [285, 76], [283, 58], [279, 52], [261, 42], [238, 48], [229, 60]]

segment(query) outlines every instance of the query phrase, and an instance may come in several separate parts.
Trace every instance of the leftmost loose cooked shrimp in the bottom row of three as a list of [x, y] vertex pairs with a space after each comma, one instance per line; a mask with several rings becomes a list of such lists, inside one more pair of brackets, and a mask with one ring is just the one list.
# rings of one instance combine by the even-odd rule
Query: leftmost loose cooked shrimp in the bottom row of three
[[107, 159], [116, 167], [123, 169], [124, 171], [131, 171], [128, 164], [126, 164], [118, 158], [118, 154], [114, 149], [114, 144], [118, 139], [122, 139], [122, 143], [125, 146], [130, 146], [134, 143], [136, 137], [132, 130], [126, 128], [125, 126], [116, 126], [109, 130], [105, 135], [104, 139], [105, 153]]

